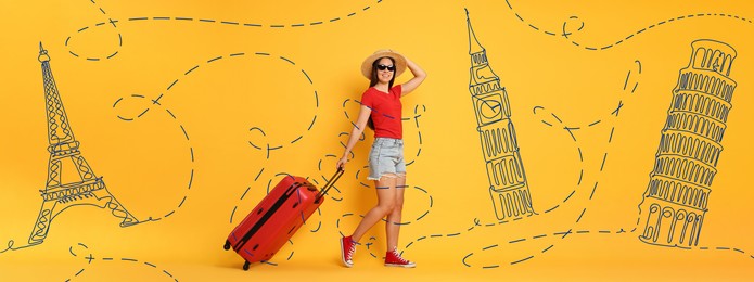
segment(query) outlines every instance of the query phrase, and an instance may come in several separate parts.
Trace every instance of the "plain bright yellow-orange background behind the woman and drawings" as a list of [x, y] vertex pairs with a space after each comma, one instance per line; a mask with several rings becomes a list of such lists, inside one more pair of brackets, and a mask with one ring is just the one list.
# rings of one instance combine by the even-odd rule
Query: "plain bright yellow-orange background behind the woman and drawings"
[[[493, 213], [468, 90], [464, 9], [509, 93], [538, 216], [499, 223]], [[69, 208], [43, 244], [0, 254], [2, 281], [754, 279], [747, 1], [4, 0], [0, 10], [0, 242], [24, 245], [42, 202], [49, 153], [40, 41], [84, 156], [137, 218], [161, 218], [120, 228], [105, 209]], [[692, 14], [705, 15], [676, 20]], [[737, 50], [730, 77], [738, 88], [699, 246], [653, 246], [638, 240], [640, 227], [630, 230], [697, 39]], [[241, 271], [242, 259], [221, 248], [226, 236], [278, 174], [321, 187], [333, 172], [347, 140], [341, 133], [350, 130], [346, 113], [357, 114], [353, 100], [368, 86], [359, 65], [382, 48], [429, 73], [404, 99], [406, 155], [414, 163], [404, 211], [411, 223], [399, 247], [418, 268], [387, 269], [373, 257], [385, 252], [381, 225], [367, 236], [374, 236], [370, 248], [357, 251], [355, 268], [340, 264], [340, 232], [352, 232], [356, 215], [375, 203], [373, 189], [360, 184], [369, 131], [321, 215], [274, 265]], [[150, 102], [157, 98], [161, 105]], [[619, 103], [619, 115], [611, 115]], [[575, 141], [563, 127], [580, 127]], [[268, 158], [252, 144], [282, 148]]]

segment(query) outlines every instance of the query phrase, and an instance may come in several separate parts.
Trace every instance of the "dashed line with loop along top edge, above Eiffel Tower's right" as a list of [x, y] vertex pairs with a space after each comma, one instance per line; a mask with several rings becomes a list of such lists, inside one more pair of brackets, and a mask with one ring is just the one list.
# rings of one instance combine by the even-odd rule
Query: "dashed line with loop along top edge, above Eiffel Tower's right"
[[[272, 28], [272, 29], [282, 29], [282, 28], [318, 26], [318, 25], [322, 25], [322, 24], [327, 24], [327, 23], [341, 22], [343, 20], [352, 18], [356, 15], [366, 13], [367, 11], [371, 10], [371, 8], [374, 8], [374, 7], [376, 7], [376, 4], [380, 4], [383, 2], [383, 0], [376, 0], [373, 5], [366, 5], [361, 9], [358, 9], [354, 12], [348, 13], [347, 15], [332, 17], [332, 18], [328, 18], [328, 20], [314, 21], [314, 22], [308, 22], [308, 23], [298, 22], [298, 23], [294, 23], [294, 24], [258, 24], [258, 23], [242, 23], [242, 22], [238, 22], [238, 21], [218, 21], [218, 20], [213, 20], [213, 18], [184, 17], [184, 16], [176, 16], [176, 17], [170, 17], [170, 16], [136, 16], [136, 17], [129, 17], [127, 20], [113, 20], [113, 18], [110, 18], [107, 16], [107, 13], [105, 13], [105, 11], [102, 8], [100, 8], [93, 0], [90, 0], [90, 1], [92, 2], [92, 4], [94, 4], [99, 9], [100, 12], [102, 12], [103, 15], [105, 15], [107, 17], [107, 22], [100, 22], [100, 23], [97, 23], [92, 26], [85, 26], [85, 27], [78, 28], [74, 35], [68, 36], [65, 39], [65, 47], [71, 48], [69, 42], [74, 38], [74, 36], [76, 36], [76, 35], [79, 35], [79, 34], [82, 34], [85, 31], [92, 30], [94, 28], [102, 27], [105, 25], [112, 25], [114, 28], [117, 29], [116, 24], [118, 24], [120, 22], [123, 22], [120, 24], [124, 24], [124, 23], [170, 22], [170, 21], [172, 21], [172, 22], [179, 22], [179, 23], [193, 22], [193, 23], [201, 23], [201, 24], [218, 24], [221, 26], [240, 26], [240, 27], [252, 27], [252, 28], [254, 28], [254, 27], [265, 28], [266, 27], [266, 28]], [[85, 59], [85, 60], [90, 61], [90, 62], [99, 62], [99, 61], [113, 59], [120, 52], [120, 48], [123, 48], [123, 41], [124, 41], [123, 34], [120, 34], [118, 31], [117, 35], [118, 35], [117, 50], [113, 51], [111, 54], [108, 54], [106, 56], [90, 56], [90, 57], [88, 57], [88, 56], [84, 56], [77, 52], [74, 52], [74, 50], [68, 50], [68, 53], [75, 57]]]

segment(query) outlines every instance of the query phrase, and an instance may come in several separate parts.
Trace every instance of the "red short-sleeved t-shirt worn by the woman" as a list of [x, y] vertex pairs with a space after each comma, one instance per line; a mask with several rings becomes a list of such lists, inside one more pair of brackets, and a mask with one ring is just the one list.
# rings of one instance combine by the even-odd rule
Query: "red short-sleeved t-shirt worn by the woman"
[[374, 138], [386, 137], [402, 139], [404, 127], [401, 119], [400, 85], [391, 88], [388, 93], [370, 87], [361, 94], [361, 104], [372, 110], [372, 123], [374, 123]]

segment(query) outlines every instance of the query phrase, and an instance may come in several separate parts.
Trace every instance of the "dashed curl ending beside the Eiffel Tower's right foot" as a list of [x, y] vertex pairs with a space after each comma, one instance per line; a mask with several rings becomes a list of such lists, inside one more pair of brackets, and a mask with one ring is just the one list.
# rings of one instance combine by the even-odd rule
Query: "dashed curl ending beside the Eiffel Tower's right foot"
[[[174, 209], [166, 211], [163, 216], [149, 217], [146, 220], [144, 220], [144, 221], [157, 221], [157, 220], [161, 220], [163, 218], [174, 216], [175, 213], [178, 211], [178, 209], [183, 207], [183, 205], [186, 204], [186, 201], [189, 197], [189, 192], [191, 192], [191, 188], [193, 185], [193, 181], [194, 181], [194, 177], [195, 177], [195, 168], [194, 168], [194, 163], [195, 163], [195, 153], [194, 152], [195, 152], [195, 150], [191, 145], [191, 138], [189, 137], [189, 132], [186, 129], [186, 126], [183, 126], [179, 121], [178, 117], [176, 116], [176, 114], [172, 111], [170, 111], [169, 108], [165, 107], [162, 103], [159, 103], [159, 98], [157, 98], [156, 100], [148, 100], [144, 95], [140, 95], [140, 94], [131, 94], [129, 98], [133, 99], [133, 100], [142, 100], [146, 104], [151, 104], [152, 106], [156, 106], [156, 107], [164, 110], [164, 113], [166, 113], [168, 116], [170, 116], [170, 118], [172, 118], [172, 120], [176, 123], [178, 128], [180, 128], [180, 130], [183, 134], [183, 138], [186, 139], [186, 141], [188, 143], [189, 159], [191, 161], [192, 167], [191, 167], [191, 171], [189, 172], [189, 180], [188, 180], [188, 183], [186, 187], [186, 194], [183, 194], [183, 197], [181, 198], [180, 203], [178, 203], [178, 205]], [[162, 95], [161, 95], [161, 98], [162, 98]], [[115, 103], [113, 103], [113, 110], [117, 111], [118, 105], [123, 101], [124, 101], [124, 98], [116, 100]], [[150, 108], [151, 107], [148, 107], [146, 110], [142, 111], [141, 114], [139, 114], [136, 117], [128, 117], [127, 118], [127, 117], [123, 117], [122, 115], [117, 115], [117, 117], [124, 121], [136, 121], [136, 120], [144, 117], [145, 114], [150, 112]]]

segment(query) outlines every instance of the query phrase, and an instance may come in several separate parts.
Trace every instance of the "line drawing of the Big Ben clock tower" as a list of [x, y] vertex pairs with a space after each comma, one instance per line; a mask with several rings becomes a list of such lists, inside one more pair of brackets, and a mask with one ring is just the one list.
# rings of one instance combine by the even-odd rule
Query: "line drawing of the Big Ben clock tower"
[[508, 91], [489, 66], [487, 51], [472, 29], [469, 11], [465, 12], [472, 65], [469, 92], [476, 114], [476, 131], [482, 141], [495, 216], [504, 220], [536, 215], [511, 120]]

